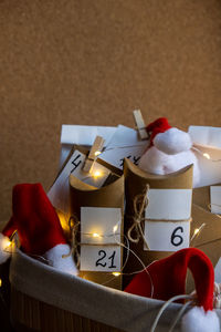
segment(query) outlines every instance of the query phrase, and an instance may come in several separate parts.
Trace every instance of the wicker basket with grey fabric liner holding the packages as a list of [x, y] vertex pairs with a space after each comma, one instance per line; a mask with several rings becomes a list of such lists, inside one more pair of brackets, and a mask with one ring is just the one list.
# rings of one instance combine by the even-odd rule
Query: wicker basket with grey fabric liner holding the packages
[[[147, 332], [164, 303], [60, 272], [20, 250], [11, 260], [10, 282], [15, 331]], [[180, 307], [167, 309], [157, 332], [168, 331]]]

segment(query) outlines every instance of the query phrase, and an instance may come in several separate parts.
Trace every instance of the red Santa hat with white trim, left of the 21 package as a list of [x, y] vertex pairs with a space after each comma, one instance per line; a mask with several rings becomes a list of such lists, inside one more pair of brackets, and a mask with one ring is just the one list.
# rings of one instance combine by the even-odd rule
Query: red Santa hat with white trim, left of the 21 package
[[9, 237], [17, 230], [22, 250], [31, 256], [45, 258], [51, 266], [76, 274], [73, 258], [63, 257], [70, 246], [63, 234], [59, 217], [41, 184], [21, 184], [12, 193], [13, 215], [6, 225], [0, 239], [0, 262], [9, 257], [2, 250]]

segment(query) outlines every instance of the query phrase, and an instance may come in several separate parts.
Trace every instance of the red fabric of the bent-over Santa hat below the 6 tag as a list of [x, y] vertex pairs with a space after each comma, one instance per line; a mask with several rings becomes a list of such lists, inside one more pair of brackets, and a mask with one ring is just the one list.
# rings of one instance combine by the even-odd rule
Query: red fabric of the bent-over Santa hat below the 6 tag
[[147, 271], [138, 273], [126, 287], [125, 291], [140, 297], [151, 297], [151, 282], [154, 284], [154, 299], [169, 300], [186, 293], [187, 269], [194, 278], [198, 304], [204, 310], [213, 308], [214, 270], [210, 259], [199, 249], [187, 248], [177, 251], [168, 258], [158, 260], [147, 267]]

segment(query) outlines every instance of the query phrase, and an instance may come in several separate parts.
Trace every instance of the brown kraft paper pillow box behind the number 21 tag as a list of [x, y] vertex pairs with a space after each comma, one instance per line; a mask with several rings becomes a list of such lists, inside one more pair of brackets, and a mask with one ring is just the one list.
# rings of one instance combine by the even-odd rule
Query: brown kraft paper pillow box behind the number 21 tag
[[[81, 222], [82, 208], [107, 208], [117, 209], [120, 211], [120, 226], [119, 226], [119, 242], [124, 241], [124, 175], [115, 178], [112, 183], [105, 184], [102, 188], [90, 186], [73, 175], [70, 176], [70, 199], [71, 199], [71, 214], [76, 216]], [[95, 215], [96, 216], [96, 215]], [[104, 219], [105, 222], [105, 219]], [[81, 224], [78, 231], [78, 241], [81, 241]], [[91, 246], [94, 247], [94, 246]], [[81, 246], [82, 248], [82, 246]], [[80, 250], [81, 250], [80, 248]], [[105, 248], [105, 247], [104, 247]], [[104, 249], [103, 248], [103, 249]], [[92, 248], [93, 249], [93, 248]], [[83, 250], [83, 249], [82, 249]], [[104, 249], [103, 251], [105, 251]], [[123, 247], [118, 246], [120, 255], [120, 263], [123, 263]], [[120, 267], [122, 268], [122, 267]], [[112, 272], [103, 271], [80, 271], [80, 277], [112, 287], [122, 289], [122, 274], [115, 277]]]

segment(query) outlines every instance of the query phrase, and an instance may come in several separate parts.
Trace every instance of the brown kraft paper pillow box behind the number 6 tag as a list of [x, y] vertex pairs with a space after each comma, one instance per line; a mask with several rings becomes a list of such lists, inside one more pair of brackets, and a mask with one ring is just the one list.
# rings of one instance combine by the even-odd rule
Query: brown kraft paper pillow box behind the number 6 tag
[[[149, 185], [149, 188], [155, 188], [155, 189], [192, 190], [192, 165], [169, 175], [152, 175], [139, 169], [130, 160], [125, 159], [124, 175], [125, 175], [125, 197], [126, 197], [126, 212], [125, 212], [124, 227], [125, 227], [126, 236], [128, 229], [131, 227], [134, 222], [133, 217], [135, 215], [135, 207], [134, 207], [135, 197], [144, 191], [147, 184]], [[165, 197], [165, 199], [167, 199], [167, 197]], [[190, 214], [191, 214], [191, 206], [190, 206]], [[143, 217], [145, 217], [145, 214], [143, 215]], [[144, 224], [145, 221], [141, 221], [143, 231], [145, 226]], [[152, 261], [165, 258], [173, 252], [173, 251], [162, 251], [162, 250], [145, 250], [144, 241], [141, 238], [139, 239], [138, 243], [134, 243], [130, 241], [129, 245], [130, 245], [130, 249], [134, 251], [135, 255], [131, 251], [129, 252], [128, 261], [124, 269], [124, 287], [126, 287], [126, 284], [131, 280], [133, 274], [130, 273], [140, 271], [144, 269], [144, 266], [148, 266]], [[124, 255], [125, 257], [127, 256], [127, 250], [125, 250]], [[138, 256], [138, 259], [136, 256]]]

